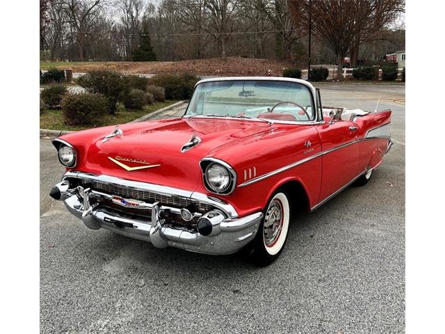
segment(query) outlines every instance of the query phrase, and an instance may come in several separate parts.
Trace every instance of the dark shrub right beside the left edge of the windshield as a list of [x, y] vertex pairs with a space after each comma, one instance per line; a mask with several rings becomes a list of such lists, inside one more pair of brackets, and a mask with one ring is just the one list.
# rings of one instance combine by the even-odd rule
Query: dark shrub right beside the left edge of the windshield
[[165, 98], [172, 100], [190, 99], [193, 88], [199, 79], [192, 74], [157, 74], [148, 83], [165, 88]]

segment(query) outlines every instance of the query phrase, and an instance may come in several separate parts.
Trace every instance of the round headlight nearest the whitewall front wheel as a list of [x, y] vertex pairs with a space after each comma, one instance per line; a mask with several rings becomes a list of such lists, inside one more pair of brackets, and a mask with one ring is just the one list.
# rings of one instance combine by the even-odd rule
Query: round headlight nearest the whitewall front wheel
[[[205, 166], [209, 159], [212, 159], [211, 162]], [[204, 184], [207, 189], [213, 193], [231, 193], [236, 182], [236, 174], [232, 167], [224, 161], [215, 160], [217, 159], [204, 158], [202, 160]]]

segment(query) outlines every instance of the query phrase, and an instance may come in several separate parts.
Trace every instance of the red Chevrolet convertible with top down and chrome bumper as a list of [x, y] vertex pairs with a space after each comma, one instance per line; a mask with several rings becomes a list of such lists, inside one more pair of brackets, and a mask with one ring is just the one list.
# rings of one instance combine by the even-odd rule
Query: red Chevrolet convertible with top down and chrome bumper
[[364, 185], [392, 141], [391, 111], [322, 107], [307, 81], [206, 79], [181, 118], [54, 140], [51, 197], [88, 228], [206, 254], [280, 255], [295, 209]]

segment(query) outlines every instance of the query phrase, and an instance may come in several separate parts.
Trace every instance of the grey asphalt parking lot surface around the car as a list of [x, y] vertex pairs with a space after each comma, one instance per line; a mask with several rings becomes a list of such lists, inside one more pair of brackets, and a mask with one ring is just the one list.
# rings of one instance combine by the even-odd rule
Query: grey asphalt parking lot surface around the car
[[381, 95], [395, 144], [366, 186], [296, 217], [266, 268], [88, 230], [49, 198], [63, 168], [41, 139], [40, 331], [403, 333], [405, 87], [319, 87], [324, 105], [374, 110]]

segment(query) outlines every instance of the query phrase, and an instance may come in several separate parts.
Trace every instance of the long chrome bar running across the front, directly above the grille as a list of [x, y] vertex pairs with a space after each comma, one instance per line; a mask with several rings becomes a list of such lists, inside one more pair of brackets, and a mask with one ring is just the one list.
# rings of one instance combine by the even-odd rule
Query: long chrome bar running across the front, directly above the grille
[[225, 214], [227, 214], [227, 217], [229, 218], [236, 218], [238, 217], [238, 212], [234, 209], [234, 207], [226, 202], [223, 202], [223, 200], [216, 200], [213, 198], [210, 198], [209, 196], [205, 195], [204, 193], [198, 193], [194, 191], [188, 191], [183, 189], [177, 189], [172, 188], [170, 186], [160, 186], [159, 184], [151, 184], [147, 182], [139, 182], [139, 181], [131, 181], [126, 179], [121, 179], [120, 177], [113, 177], [109, 175], [95, 175], [91, 173], [83, 173], [83, 172], [71, 172], [68, 171], [63, 175], [62, 180], [65, 180], [68, 177], [72, 178], [82, 178], [82, 179], [88, 179], [92, 181], [99, 181], [99, 182], [105, 182], [109, 184], [118, 184], [120, 186], [128, 186], [130, 188], [136, 188], [136, 189], [144, 189], [147, 191], [152, 191], [153, 193], [159, 193], [160, 195], [165, 196], [181, 196], [186, 198], [191, 198], [192, 200], [197, 200], [198, 202], [202, 202], [208, 205], [212, 205], [213, 207], [217, 207], [221, 211], [223, 211]]

